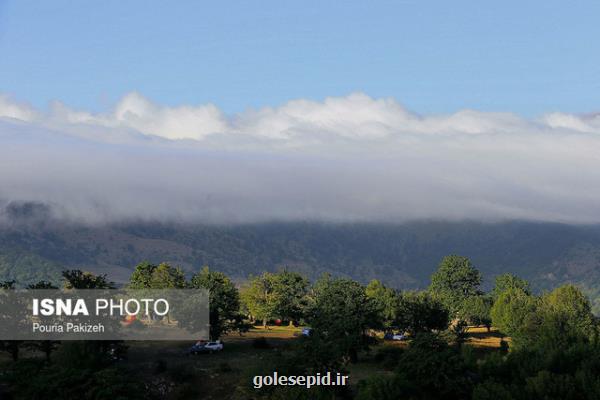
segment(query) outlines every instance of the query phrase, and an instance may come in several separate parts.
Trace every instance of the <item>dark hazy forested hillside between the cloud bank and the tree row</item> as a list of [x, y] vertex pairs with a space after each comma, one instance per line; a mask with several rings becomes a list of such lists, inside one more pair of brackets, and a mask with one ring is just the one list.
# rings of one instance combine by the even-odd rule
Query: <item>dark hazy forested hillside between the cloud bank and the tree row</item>
[[563, 282], [600, 287], [600, 227], [529, 222], [408, 224], [268, 223], [237, 226], [55, 222], [0, 229], [3, 279], [52, 279], [62, 268], [127, 279], [142, 260], [188, 272], [202, 265], [243, 278], [282, 266], [314, 278], [323, 272], [398, 288], [422, 288], [447, 254], [469, 256], [485, 284], [517, 273], [535, 289]]

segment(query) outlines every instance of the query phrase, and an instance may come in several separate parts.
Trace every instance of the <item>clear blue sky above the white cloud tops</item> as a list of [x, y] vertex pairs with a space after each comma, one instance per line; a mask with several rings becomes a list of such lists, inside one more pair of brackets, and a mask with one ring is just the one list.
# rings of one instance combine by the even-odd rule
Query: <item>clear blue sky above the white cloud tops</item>
[[0, 92], [226, 113], [364, 92], [419, 113], [600, 109], [596, 1], [0, 0]]

